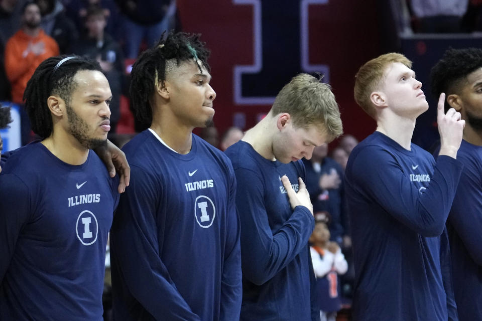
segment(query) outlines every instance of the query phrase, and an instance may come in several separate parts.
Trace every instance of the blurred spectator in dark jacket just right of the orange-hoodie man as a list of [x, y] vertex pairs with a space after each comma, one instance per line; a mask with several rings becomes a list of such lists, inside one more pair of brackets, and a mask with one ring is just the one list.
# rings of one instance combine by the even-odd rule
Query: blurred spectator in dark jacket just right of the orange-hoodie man
[[72, 20], [65, 15], [64, 6], [59, 0], [35, 0], [35, 3], [42, 15], [40, 27], [55, 39], [61, 54], [67, 53], [79, 35]]

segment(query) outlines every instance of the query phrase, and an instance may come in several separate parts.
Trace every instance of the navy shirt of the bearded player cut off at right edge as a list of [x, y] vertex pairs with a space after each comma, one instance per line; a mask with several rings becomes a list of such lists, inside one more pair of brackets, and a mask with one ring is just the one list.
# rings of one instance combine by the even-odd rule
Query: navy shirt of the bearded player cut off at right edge
[[447, 220], [460, 321], [482, 320], [482, 146], [462, 140], [464, 165]]

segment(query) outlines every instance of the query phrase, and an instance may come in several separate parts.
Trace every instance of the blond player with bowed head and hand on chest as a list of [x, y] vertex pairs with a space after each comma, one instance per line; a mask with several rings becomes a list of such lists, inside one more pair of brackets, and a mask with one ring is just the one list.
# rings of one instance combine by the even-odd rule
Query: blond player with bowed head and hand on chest
[[268, 115], [226, 149], [238, 184], [241, 320], [320, 319], [308, 246], [315, 221], [300, 159], [341, 133], [330, 87], [300, 74]]

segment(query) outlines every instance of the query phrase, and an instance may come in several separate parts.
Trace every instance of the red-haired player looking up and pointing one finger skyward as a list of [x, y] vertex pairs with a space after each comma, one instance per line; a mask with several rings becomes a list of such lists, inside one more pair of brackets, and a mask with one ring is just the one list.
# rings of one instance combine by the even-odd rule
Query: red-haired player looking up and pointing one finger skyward
[[377, 122], [346, 166], [356, 320], [457, 320], [445, 221], [460, 178], [464, 121], [443, 112], [437, 159], [411, 143], [428, 103], [412, 63], [390, 53], [363, 65], [354, 97]]

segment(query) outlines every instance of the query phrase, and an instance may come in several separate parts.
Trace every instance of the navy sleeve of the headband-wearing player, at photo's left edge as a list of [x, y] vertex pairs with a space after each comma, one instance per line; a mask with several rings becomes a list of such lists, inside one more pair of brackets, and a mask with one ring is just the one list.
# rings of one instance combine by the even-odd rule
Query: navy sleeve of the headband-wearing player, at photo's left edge
[[14, 255], [19, 234], [30, 215], [27, 185], [14, 174], [0, 175], [0, 284]]

